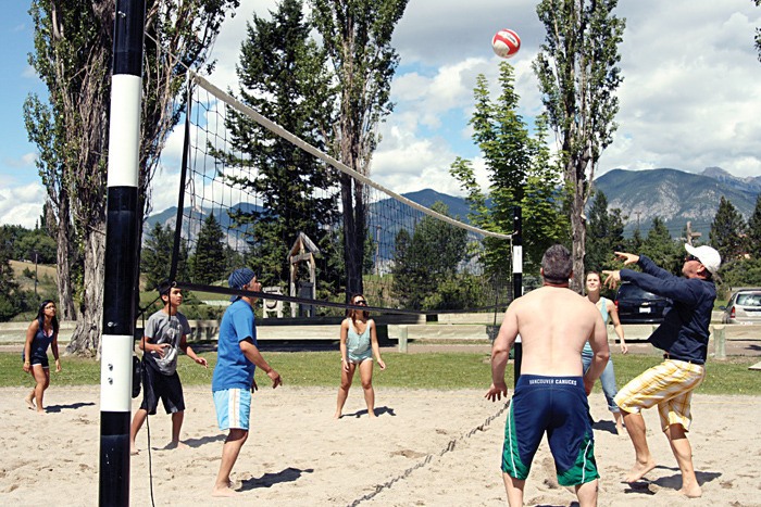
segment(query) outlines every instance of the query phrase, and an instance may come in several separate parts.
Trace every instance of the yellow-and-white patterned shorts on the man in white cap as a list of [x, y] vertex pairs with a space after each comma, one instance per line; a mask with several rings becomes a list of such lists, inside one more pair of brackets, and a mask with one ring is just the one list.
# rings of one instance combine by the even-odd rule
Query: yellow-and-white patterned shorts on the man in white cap
[[671, 424], [682, 424], [685, 431], [689, 431], [693, 391], [704, 378], [703, 365], [666, 359], [624, 385], [615, 396], [615, 404], [622, 410], [635, 414], [658, 405], [663, 431]]

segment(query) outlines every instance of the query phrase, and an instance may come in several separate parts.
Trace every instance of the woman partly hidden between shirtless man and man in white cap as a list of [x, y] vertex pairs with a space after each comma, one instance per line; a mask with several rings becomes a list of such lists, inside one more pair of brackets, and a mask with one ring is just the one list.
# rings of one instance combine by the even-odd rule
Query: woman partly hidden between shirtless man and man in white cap
[[[600, 274], [596, 271], [587, 272], [586, 289], [587, 289], [587, 300], [597, 306], [602, 315], [602, 321], [608, 325], [608, 321], [613, 321], [613, 330], [621, 341], [621, 353], [626, 354], [628, 352], [628, 346], [626, 346], [626, 341], [624, 340], [624, 327], [619, 320], [619, 310], [615, 308], [615, 304], [607, 297], [600, 295]], [[582, 365], [584, 371], [586, 372], [591, 364], [594, 354], [589, 343], [584, 344], [584, 350], [582, 351]], [[615, 370], [613, 369], [613, 356], [611, 354], [610, 359], [608, 359], [608, 365], [600, 376], [600, 383], [602, 384], [602, 393], [606, 395], [606, 401], [608, 402], [608, 409], [613, 414], [613, 419], [615, 420], [615, 431], [619, 434], [623, 434], [624, 427], [622, 424], [621, 410], [615, 404], [613, 398], [619, 393], [619, 388], [615, 385]]]

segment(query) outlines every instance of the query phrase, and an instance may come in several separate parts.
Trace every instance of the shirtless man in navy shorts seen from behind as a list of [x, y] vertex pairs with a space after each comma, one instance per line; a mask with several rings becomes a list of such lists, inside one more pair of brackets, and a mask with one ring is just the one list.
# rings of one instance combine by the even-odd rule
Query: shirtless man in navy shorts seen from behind
[[[523, 505], [523, 489], [547, 431], [558, 482], [574, 486], [582, 507], [597, 505], [597, 464], [587, 395], [606, 369], [608, 332], [597, 307], [569, 289], [572, 259], [556, 244], [541, 258], [544, 287], [514, 300], [491, 348], [492, 402], [508, 395], [504, 368], [521, 333], [523, 363], [504, 430], [502, 479], [510, 506]], [[582, 348], [594, 353], [582, 373]]]

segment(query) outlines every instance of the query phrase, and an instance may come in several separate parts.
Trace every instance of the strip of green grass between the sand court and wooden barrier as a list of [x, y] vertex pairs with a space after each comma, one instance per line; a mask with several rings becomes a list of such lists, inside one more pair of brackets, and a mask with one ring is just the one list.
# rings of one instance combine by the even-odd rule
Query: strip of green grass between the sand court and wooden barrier
[[[211, 377], [216, 363], [215, 352], [203, 352], [209, 368], [202, 368], [182, 355], [178, 363], [179, 377], [184, 385], [211, 386]], [[267, 362], [283, 376], [285, 385], [338, 386], [340, 362], [338, 351], [332, 352], [266, 352]], [[388, 365], [385, 371], [377, 368], [373, 383], [377, 388], [408, 389], [484, 389], [491, 382], [489, 356], [483, 353], [431, 353], [400, 354], [384, 353]], [[52, 357], [52, 356], [51, 356]], [[627, 354], [614, 358], [615, 377], [619, 388], [647, 368], [660, 363], [654, 355]], [[757, 357], [737, 357], [708, 363], [706, 381], [698, 388], [703, 394], [757, 394], [761, 372], [748, 370], [758, 362]], [[100, 363], [79, 357], [62, 357], [63, 370], [52, 372], [53, 385], [88, 385], [100, 383]], [[512, 365], [507, 369], [508, 385], [512, 385]], [[269, 379], [260, 371], [257, 382], [265, 386]], [[355, 382], [359, 382], [357, 377]], [[22, 370], [20, 353], [0, 353], [0, 386], [32, 386], [33, 380]], [[600, 392], [599, 382], [595, 391]]]

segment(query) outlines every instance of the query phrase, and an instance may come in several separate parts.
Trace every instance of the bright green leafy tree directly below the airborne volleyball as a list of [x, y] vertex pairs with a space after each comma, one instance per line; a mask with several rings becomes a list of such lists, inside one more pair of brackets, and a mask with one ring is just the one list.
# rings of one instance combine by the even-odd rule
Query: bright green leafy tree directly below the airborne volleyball
[[[539, 117], [536, 137], [528, 135], [523, 117], [516, 113], [519, 97], [514, 90], [513, 67], [500, 64], [502, 92], [496, 101], [482, 74], [476, 77], [475, 112], [470, 124], [489, 177], [488, 192], [476, 181], [470, 161], [458, 157], [450, 174], [467, 192], [471, 221], [489, 231], [510, 233], [513, 210], [523, 213], [523, 242], [528, 266], [537, 267], [547, 248], [567, 238], [567, 219], [561, 212], [563, 195], [560, 172], [550, 163], [547, 149], [547, 123]], [[486, 267], [490, 272], [504, 271], [511, 257], [509, 241], [486, 238]], [[529, 268], [531, 269], [531, 268]]]

